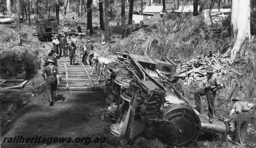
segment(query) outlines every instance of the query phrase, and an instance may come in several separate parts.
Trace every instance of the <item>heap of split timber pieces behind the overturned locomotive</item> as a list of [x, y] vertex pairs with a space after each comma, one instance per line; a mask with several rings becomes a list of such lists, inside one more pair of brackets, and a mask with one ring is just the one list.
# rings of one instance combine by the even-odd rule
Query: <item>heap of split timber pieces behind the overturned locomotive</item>
[[[206, 67], [212, 66], [215, 74], [220, 78], [226, 74], [238, 74], [237, 70], [229, 66], [231, 63], [226, 58], [217, 58], [216, 55], [211, 54], [211, 56], [197, 56], [196, 58], [183, 63], [177, 68], [177, 73], [180, 73], [180, 77], [183, 78], [184, 85], [189, 85], [195, 81], [205, 83], [207, 81]], [[185, 79], [184, 79], [185, 78]]]

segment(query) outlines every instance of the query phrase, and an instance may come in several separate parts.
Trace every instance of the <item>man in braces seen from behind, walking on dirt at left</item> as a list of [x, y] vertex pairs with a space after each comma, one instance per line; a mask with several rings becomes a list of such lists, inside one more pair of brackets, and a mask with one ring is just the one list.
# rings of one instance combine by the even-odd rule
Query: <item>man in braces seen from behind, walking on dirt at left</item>
[[[50, 106], [52, 106], [53, 99], [55, 98], [55, 95], [56, 95], [57, 84], [59, 84], [60, 81], [59, 81], [58, 68], [53, 65], [54, 59], [49, 58], [47, 61], [49, 62], [49, 65], [44, 67], [41, 74], [44, 80], [46, 81], [46, 84], [45, 84], [46, 92], [50, 101]], [[44, 73], [46, 73], [46, 76], [47, 76], [46, 79], [45, 79]]]

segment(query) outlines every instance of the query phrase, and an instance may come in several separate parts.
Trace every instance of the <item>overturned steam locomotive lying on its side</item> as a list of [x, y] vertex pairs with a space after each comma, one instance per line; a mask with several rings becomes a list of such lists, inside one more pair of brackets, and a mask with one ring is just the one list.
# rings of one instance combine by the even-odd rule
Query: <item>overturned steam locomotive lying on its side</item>
[[109, 67], [104, 93], [109, 115], [116, 120], [110, 131], [127, 143], [141, 133], [156, 136], [169, 146], [196, 141], [201, 122], [194, 108], [162, 77], [173, 78], [175, 63], [136, 54], [119, 53]]

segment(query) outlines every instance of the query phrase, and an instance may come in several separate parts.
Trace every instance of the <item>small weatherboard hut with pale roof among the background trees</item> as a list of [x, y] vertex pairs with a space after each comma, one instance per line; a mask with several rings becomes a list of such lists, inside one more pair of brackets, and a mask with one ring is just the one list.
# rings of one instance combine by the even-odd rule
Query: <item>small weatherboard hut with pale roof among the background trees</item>
[[143, 25], [149, 26], [161, 19], [163, 6], [146, 6], [143, 10]]

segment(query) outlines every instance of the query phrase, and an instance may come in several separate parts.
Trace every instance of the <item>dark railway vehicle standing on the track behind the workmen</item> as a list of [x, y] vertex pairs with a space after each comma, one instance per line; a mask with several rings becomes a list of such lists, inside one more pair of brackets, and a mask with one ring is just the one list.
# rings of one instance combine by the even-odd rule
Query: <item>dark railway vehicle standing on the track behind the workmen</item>
[[48, 40], [58, 33], [56, 17], [52, 15], [35, 17], [36, 31], [33, 33], [39, 40]]

